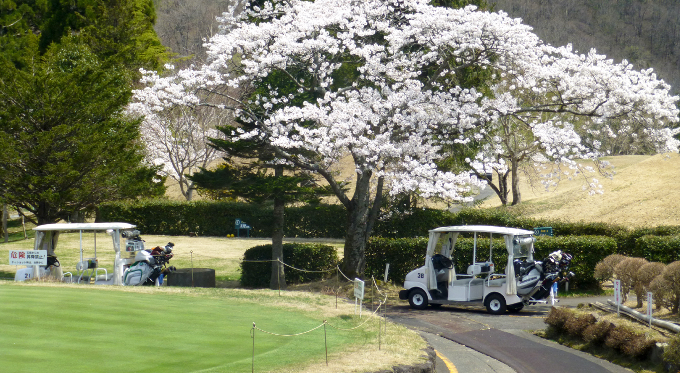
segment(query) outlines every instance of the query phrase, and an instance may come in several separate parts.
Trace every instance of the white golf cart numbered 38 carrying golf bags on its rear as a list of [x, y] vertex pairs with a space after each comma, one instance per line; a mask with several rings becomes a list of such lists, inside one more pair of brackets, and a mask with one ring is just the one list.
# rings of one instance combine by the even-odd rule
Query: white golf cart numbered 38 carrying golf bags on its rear
[[[456, 272], [456, 258], [452, 257], [461, 233], [474, 238], [472, 261], [465, 274]], [[505, 274], [494, 272], [494, 234], [503, 237], [503, 249], [508, 254]], [[411, 307], [416, 309], [424, 309], [428, 304], [479, 304], [494, 315], [505, 313], [505, 310], [517, 312], [528, 304], [547, 303], [545, 299], [553, 294], [553, 283], [573, 276], [571, 272], [562, 276], [571, 263], [571, 255], [556, 251], [543, 262], [534, 262], [536, 239], [533, 234], [530, 230], [495, 226], [451, 226], [430, 230], [425, 265], [406, 275], [405, 289], [399, 291], [399, 298], [409, 300]], [[485, 262], [477, 262], [477, 253], [486, 251], [477, 245], [477, 238], [481, 236], [490, 238], [488, 261]], [[500, 249], [498, 241], [496, 246]]]

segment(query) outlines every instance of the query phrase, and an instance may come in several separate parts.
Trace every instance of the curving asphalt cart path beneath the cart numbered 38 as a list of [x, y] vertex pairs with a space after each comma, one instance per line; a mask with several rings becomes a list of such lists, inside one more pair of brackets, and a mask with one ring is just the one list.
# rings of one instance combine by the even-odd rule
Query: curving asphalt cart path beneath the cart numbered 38
[[[592, 302], [592, 298], [565, 299], [564, 306]], [[573, 305], [572, 305], [573, 304]], [[609, 361], [598, 359], [555, 342], [526, 332], [545, 327], [543, 318], [550, 306], [526, 307], [516, 314], [490, 315], [478, 306], [441, 306], [413, 310], [408, 305], [390, 307], [391, 321], [413, 329], [440, 336], [457, 345], [440, 345], [436, 338], [428, 338], [439, 353], [447, 357], [456, 370], [442, 372], [517, 372], [517, 373], [630, 373], [631, 370]], [[425, 336], [425, 334], [424, 334]], [[441, 339], [440, 338], [440, 339]], [[435, 341], [435, 342], [432, 342]], [[447, 351], [442, 353], [441, 351]], [[441, 350], [441, 351], [440, 351]], [[479, 355], [475, 355], [474, 350]]]

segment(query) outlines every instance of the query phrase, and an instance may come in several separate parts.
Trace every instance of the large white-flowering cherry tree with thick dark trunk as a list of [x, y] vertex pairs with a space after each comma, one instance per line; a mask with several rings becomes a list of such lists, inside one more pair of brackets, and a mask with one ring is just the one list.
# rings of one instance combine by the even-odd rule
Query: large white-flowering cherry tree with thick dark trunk
[[[324, 177], [347, 209], [343, 266], [350, 275], [364, 272], [383, 192], [471, 200], [471, 188], [484, 182], [435, 162], [444, 145], [481, 141], [508, 118], [530, 124], [543, 152], [560, 162], [597, 156], [573, 118], [593, 127], [629, 118], [644, 124], [658, 152], [678, 149], [677, 130], [666, 128], [678, 120], [677, 98], [651, 71], [544, 45], [502, 12], [422, 0], [235, 9], [206, 44], [209, 63], [170, 77], [143, 71], [147, 86], [136, 99], [154, 108], [233, 111], [249, 124], [231, 133], [234, 140], [261, 141], [281, 160]], [[464, 88], [464, 74], [488, 79]], [[216, 97], [224, 101], [216, 105]], [[345, 157], [356, 167], [351, 196], [333, 172]]]

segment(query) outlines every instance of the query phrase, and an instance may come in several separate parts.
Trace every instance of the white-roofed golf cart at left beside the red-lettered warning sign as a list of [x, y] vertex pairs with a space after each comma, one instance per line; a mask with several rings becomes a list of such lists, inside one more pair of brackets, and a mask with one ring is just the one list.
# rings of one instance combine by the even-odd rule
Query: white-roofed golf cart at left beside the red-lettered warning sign
[[[136, 226], [127, 223], [82, 223], [82, 224], [44, 224], [33, 228], [35, 230], [35, 250], [46, 250], [48, 254], [48, 266], [31, 266], [17, 270], [15, 281], [23, 281], [24, 279], [39, 278], [44, 276], [52, 276], [62, 281], [70, 282], [88, 282], [101, 285], [122, 285], [123, 271], [126, 266], [130, 266], [135, 262], [134, 251], [144, 249], [143, 242], [135, 241], [134, 239], [126, 240], [125, 251], [131, 251], [130, 257], [121, 257], [120, 253], [120, 237], [130, 238], [136, 232], [133, 230]], [[80, 232], [80, 262], [75, 265], [75, 274], [72, 272], [63, 272], [61, 264], [56, 262], [55, 250], [58, 242], [59, 234], [63, 231], [78, 231]], [[92, 232], [95, 236], [95, 255], [94, 257], [83, 257], [83, 232]], [[111, 236], [114, 244], [114, 251], [116, 251], [116, 258], [114, 260], [114, 271], [109, 273], [106, 268], [99, 268], [99, 260], [97, 259], [97, 232], [106, 232]], [[50, 263], [50, 257], [51, 263]], [[68, 275], [68, 277], [65, 277]]]

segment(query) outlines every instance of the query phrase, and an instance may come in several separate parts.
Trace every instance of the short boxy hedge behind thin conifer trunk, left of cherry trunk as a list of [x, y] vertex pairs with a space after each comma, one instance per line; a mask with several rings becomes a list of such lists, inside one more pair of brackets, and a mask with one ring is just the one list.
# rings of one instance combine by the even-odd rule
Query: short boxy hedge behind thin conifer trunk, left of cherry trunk
[[[271, 260], [271, 244], [251, 247], [243, 260]], [[303, 270], [328, 270], [339, 262], [335, 247], [311, 243], [284, 243], [284, 263]], [[241, 285], [269, 287], [271, 262], [241, 262]], [[333, 271], [313, 273], [286, 267], [286, 283], [317, 281], [335, 274]]]

